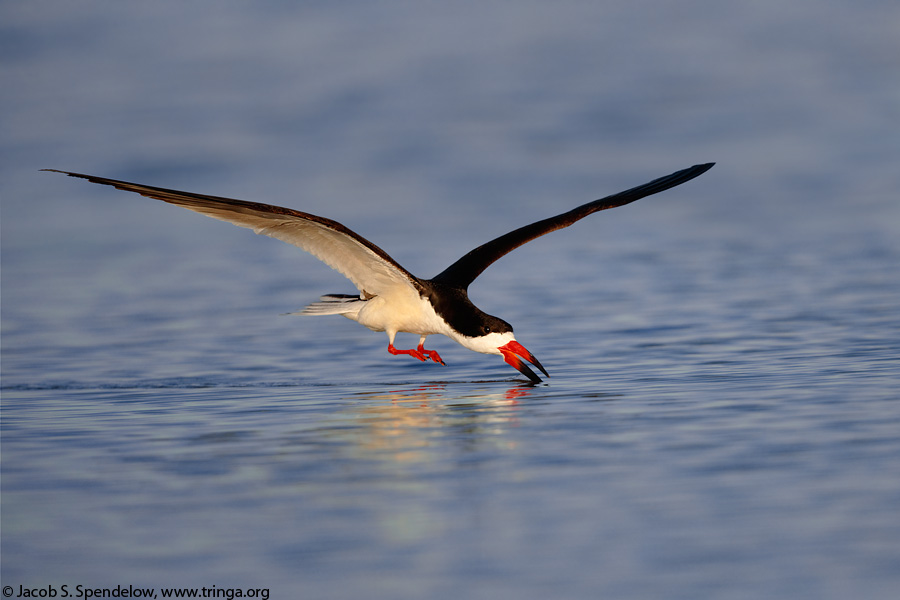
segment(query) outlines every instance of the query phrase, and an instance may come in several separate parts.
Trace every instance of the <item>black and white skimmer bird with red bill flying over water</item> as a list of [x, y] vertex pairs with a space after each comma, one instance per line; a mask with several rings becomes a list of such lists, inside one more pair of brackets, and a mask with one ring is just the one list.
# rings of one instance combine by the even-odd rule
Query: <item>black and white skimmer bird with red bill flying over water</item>
[[[546, 377], [547, 369], [513, 334], [512, 325], [489, 315], [469, 300], [469, 285], [499, 258], [542, 235], [563, 229], [590, 214], [629, 204], [681, 185], [713, 167], [697, 164], [617, 194], [543, 219], [493, 239], [430, 279], [417, 277], [358, 233], [331, 219], [290, 208], [107, 179], [58, 169], [42, 169], [136, 192], [188, 210], [252, 229], [309, 252], [349, 279], [357, 294], [327, 294], [304, 308], [305, 315], [343, 315], [388, 336], [388, 352], [444, 365], [435, 350], [425, 349], [429, 335], [442, 334], [469, 350], [501, 355], [528, 383], [541, 383], [530, 363]], [[398, 349], [399, 332], [417, 334], [415, 348]]]

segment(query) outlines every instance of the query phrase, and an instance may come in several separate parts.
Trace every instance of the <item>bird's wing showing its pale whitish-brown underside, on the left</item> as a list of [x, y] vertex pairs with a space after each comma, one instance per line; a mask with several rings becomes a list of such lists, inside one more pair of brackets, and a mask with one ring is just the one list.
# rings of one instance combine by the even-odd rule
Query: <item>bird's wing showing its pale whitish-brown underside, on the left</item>
[[417, 292], [421, 289], [418, 278], [387, 252], [331, 219], [269, 204], [179, 192], [56, 169], [43, 170], [137, 192], [287, 242], [343, 274], [360, 292], [377, 296], [397, 285], [411, 286]]

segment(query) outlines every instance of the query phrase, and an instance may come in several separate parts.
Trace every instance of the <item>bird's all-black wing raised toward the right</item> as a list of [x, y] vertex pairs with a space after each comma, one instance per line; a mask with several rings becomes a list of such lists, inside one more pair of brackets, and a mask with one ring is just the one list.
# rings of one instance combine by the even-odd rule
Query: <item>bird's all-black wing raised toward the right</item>
[[494, 261], [512, 252], [522, 244], [530, 242], [551, 231], [568, 227], [572, 223], [579, 221], [586, 216], [599, 210], [608, 208], [616, 208], [640, 200], [646, 196], [658, 194], [669, 188], [681, 185], [691, 179], [698, 177], [710, 170], [716, 163], [706, 163], [702, 165], [694, 165], [687, 169], [677, 171], [671, 175], [654, 179], [649, 183], [633, 187], [630, 190], [601, 198], [593, 202], [583, 204], [578, 208], [573, 208], [561, 215], [544, 219], [531, 225], [520, 227], [515, 231], [510, 231], [505, 235], [478, 246], [458, 261], [444, 269], [440, 274], [431, 281], [450, 285], [462, 289], [468, 288], [476, 277], [481, 275], [485, 269], [491, 266]]

